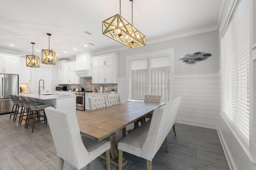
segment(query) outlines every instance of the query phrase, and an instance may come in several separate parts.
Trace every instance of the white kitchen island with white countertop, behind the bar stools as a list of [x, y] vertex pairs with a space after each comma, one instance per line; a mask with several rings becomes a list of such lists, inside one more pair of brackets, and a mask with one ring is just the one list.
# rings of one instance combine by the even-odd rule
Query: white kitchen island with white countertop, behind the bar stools
[[76, 96], [60, 94], [19, 94], [20, 96], [34, 98], [36, 102], [50, 104], [58, 110], [76, 113]]

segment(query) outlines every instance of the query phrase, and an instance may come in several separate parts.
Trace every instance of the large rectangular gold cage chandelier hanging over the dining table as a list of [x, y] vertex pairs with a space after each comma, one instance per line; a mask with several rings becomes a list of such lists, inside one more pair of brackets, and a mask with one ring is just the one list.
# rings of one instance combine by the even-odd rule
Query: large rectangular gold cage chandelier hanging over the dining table
[[146, 37], [133, 26], [133, 0], [130, 1], [132, 1], [132, 24], [121, 16], [120, 0], [120, 14], [116, 14], [102, 21], [102, 34], [131, 49], [135, 49], [146, 45]]

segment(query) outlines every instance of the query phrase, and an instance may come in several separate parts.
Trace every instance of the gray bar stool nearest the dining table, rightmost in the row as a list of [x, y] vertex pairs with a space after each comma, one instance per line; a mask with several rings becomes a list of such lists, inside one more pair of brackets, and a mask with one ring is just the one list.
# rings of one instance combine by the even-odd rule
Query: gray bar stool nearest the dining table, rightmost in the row
[[[44, 123], [47, 124], [47, 117], [45, 115], [45, 111], [44, 109], [46, 107], [52, 107], [50, 104], [44, 104], [44, 105], [38, 105], [36, 100], [28, 97], [28, 104], [30, 107], [30, 113], [28, 116], [28, 121], [27, 121], [27, 125], [26, 125], [26, 129], [28, 129], [28, 124], [31, 123], [32, 124], [32, 133], [34, 131], [34, 127], [35, 127], [35, 123], [38, 123], [40, 121], [44, 121]], [[40, 115], [40, 111], [44, 111], [44, 115]], [[30, 117], [32, 116], [32, 113], [34, 112], [34, 118], [33, 118], [33, 122], [30, 121]], [[43, 117], [44, 119], [40, 120], [40, 117]], [[36, 121], [37, 118], [37, 121]]]

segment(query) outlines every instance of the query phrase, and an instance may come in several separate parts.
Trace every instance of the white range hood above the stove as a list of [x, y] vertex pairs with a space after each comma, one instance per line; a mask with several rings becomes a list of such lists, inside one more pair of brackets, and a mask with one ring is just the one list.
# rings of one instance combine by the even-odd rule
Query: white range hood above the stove
[[92, 76], [92, 52], [86, 52], [76, 55], [76, 75], [78, 77]]

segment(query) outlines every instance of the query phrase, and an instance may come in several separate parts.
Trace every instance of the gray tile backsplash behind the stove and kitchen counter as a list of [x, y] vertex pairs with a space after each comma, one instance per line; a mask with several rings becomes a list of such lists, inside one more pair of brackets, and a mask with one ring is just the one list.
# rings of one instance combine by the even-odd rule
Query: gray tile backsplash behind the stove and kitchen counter
[[84, 84], [64, 84], [64, 86], [68, 86], [68, 90], [69, 88], [73, 89], [82, 86], [86, 91], [92, 90], [92, 86], [98, 87], [98, 89], [100, 89], [100, 87], [103, 87], [104, 93], [109, 93], [112, 89], [116, 90], [117, 93], [117, 84], [92, 84], [92, 77], [84, 77]]

